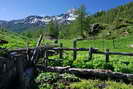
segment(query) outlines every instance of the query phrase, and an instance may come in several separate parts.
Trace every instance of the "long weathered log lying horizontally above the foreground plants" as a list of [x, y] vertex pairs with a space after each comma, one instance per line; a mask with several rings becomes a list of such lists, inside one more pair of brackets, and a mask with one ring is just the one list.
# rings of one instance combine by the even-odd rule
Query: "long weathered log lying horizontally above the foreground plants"
[[[44, 70], [44, 66], [36, 66], [40, 70]], [[44, 70], [45, 71], [45, 70]], [[104, 69], [80, 69], [70, 67], [47, 67], [48, 72], [59, 72], [59, 73], [71, 73], [82, 78], [93, 78], [101, 80], [116, 80], [123, 81], [126, 83], [133, 83], [133, 74], [126, 74], [120, 72], [112, 72], [111, 70]]]

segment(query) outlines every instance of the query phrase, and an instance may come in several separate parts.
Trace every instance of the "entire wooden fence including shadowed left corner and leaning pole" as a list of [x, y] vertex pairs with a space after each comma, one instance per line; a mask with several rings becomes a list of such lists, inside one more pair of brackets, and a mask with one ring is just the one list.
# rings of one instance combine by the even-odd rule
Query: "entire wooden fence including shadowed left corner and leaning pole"
[[[41, 39], [42, 39], [42, 36], [40, 37], [40, 40]], [[133, 56], [133, 53], [110, 52], [109, 49], [106, 49], [105, 52], [102, 52], [102, 51], [99, 51], [99, 49], [97, 49], [97, 48], [77, 48], [77, 41], [73, 42], [73, 48], [65, 48], [65, 47], [63, 47], [62, 43], [60, 43], [59, 47], [56, 47], [56, 48], [49, 47], [47, 45], [44, 47], [39, 47], [40, 40], [38, 41], [35, 48], [22, 48], [22, 49], [16, 49], [16, 50], [9, 51], [7, 53], [8, 57], [5, 58], [5, 60], [7, 60], [7, 61], [5, 61], [5, 60], [3, 61], [2, 59], [4, 59], [4, 58], [0, 57], [0, 61], [2, 61], [1, 63], [7, 64], [7, 67], [6, 67], [7, 70], [3, 70], [3, 71], [7, 71], [6, 74], [9, 75], [8, 71], [13, 70], [13, 71], [11, 71], [13, 73], [14, 68], [16, 69], [15, 72], [17, 72], [17, 74], [19, 75], [18, 78], [22, 84], [21, 85], [22, 89], [25, 89], [23, 87], [23, 86], [25, 86], [23, 83], [24, 82], [23, 72], [25, 72], [29, 66], [30, 67], [35, 66], [35, 64], [39, 61], [39, 58], [44, 59], [45, 68], [47, 68], [49, 56], [53, 55], [54, 53], [58, 53], [59, 58], [63, 59], [65, 51], [73, 51], [73, 60], [76, 60], [78, 51], [87, 51], [88, 52], [88, 60], [91, 60], [94, 54], [100, 54], [100, 55], [105, 55], [106, 62], [110, 61], [110, 57], [109, 57], [110, 55]], [[8, 65], [8, 64], [10, 64], [10, 65]], [[15, 67], [14, 67], [14, 65], [15, 65]], [[10, 74], [12, 74], [12, 73], [10, 73]], [[4, 74], [4, 76], [6, 74]], [[6, 84], [6, 83], [4, 82], [4, 84]]]

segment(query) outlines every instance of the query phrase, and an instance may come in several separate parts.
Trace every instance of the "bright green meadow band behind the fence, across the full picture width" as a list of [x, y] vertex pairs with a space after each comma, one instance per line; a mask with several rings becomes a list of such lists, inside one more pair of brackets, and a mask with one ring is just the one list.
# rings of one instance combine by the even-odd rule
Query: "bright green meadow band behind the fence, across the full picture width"
[[[132, 52], [133, 48], [130, 48], [129, 45], [133, 44], [133, 36], [121, 37], [113, 40], [83, 40], [77, 42], [78, 48], [99, 48], [99, 50], [104, 51], [106, 48], [110, 49], [110, 51], [125, 51]], [[9, 44], [1, 45], [1, 47], [6, 48], [22, 48], [26, 47], [26, 44], [29, 43], [30, 47], [34, 47], [36, 44], [36, 39], [27, 38], [17, 33], [13, 32], [2, 32], [0, 30], [0, 39], [4, 39], [9, 41]], [[52, 43], [52, 40], [44, 40], [42, 45], [46, 43]], [[72, 48], [73, 40], [59, 40], [59, 43], [63, 43], [64, 47]]]

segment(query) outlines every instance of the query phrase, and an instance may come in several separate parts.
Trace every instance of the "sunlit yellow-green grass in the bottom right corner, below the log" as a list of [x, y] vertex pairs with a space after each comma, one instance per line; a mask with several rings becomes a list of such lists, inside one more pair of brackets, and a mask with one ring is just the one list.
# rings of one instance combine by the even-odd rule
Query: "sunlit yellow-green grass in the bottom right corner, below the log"
[[70, 87], [72, 89], [133, 89], [131, 84], [100, 80], [82, 80], [81, 82], [70, 84]]

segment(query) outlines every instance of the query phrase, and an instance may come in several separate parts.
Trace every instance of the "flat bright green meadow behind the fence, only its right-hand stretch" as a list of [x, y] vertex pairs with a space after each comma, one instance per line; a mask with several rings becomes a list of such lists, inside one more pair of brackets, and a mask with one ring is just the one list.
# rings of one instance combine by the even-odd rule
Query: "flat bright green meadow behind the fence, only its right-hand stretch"
[[[133, 44], [133, 36], [121, 37], [114, 40], [83, 40], [77, 42], [79, 48], [99, 48], [100, 50], [110, 49], [111, 51], [127, 51], [132, 52], [133, 48], [129, 45]], [[64, 47], [73, 47], [73, 40], [60, 40]]]

